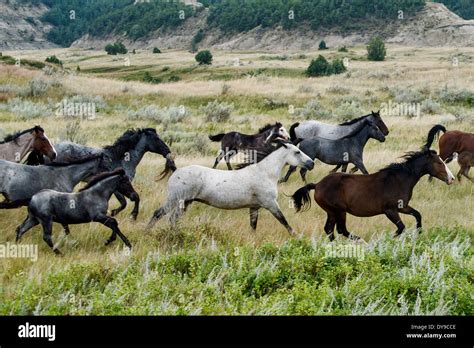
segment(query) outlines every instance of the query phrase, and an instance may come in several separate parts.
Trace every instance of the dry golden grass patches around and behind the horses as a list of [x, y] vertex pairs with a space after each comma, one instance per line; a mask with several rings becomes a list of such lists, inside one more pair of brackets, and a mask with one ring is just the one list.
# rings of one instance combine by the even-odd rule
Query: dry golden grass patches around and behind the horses
[[[366, 91], [374, 93], [375, 102], [364, 102], [364, 107], [374, 109], [380, 105], [380, 100], [386, 98], [382, 90], [385, 86], [398, 86], [401, 88], [423, 88], [430, 90], [442, 88], [443, 86], [455, 86], [457, 88], [472, 89], [474, 85], [474, 67], [471, 64], [460, 64], [458, 68], [450, 65], [449, 57], [456, 54], [456, 49], [413, 49], [390, 47], [389, 59], [381, 63], [367, 63], [365, 61], [351, 61], [350, 75], [339, 75], [318, 79], [295, 78], [243, 78], [226, 81], [230, 86], [231, 97], [252, 98], [255, 95], [281, 97], [289, 103], [301, 98], [310, 99], [319, 95], [329, 108], [337, 104], [338, 99], [332, 100], [328, 96], [327, 88], [337, 85], [343, 86], [350, 91], [350, 95], [360, 100], [364, 99]], [[474, 49], [463, 49], [463, 53], [474, 55]], [[121, 64], [102, 52], [81, 51], [77, 49], [55, 49], [48, 51], [10, 52], [10, 55], [21, 58], [44, 60], [51, 54], [56, 54], [65, 62], [65, 66], [75, 69], [80, 64], [81, 69], [114, 66]], [[266, 53], [238, 53], [238, 52], [215, 52], [215, 68], [232, 67], [233, 59], [239, 57], [244, 62], [243, 69], [260, 67], [281, 67], [291, 69], [306, 68], [309, 58], [318, 52], [306, 53], [307, 59], [292, 59], [287, 61], [263, 60], [259, 57]], [[330, 55], [337, 55], [330, 51]], [[362, 56], [363, 48], [353, 49], [354, 56]], [[195, 64], [193, 55], [187, 52], [166, 52], [160, 55], [152, 55], [150, 52], [138, 51], [132, 56], [132, 64], [157, 66], [171, 66], [172, 68], [189, 66]], [[84, 60], [84, 58], [87, 58]], [[252, 64], [248, 64], [252, 62]], [[369, 77], [373, 71], [383, 71], [388, 78], [376, 79]], [[23, 68], [6, 67], [0, 65], [0, 82], [2, 84], [24, 84], [29, 79], [39, 75], [39, 72]], [[142, 103], [156, 103], [163, 105], [165, 100], [185, 100], [185, 98], [218, 97], [222, 89], [222, 81], [180, 81], [176, 83], [150, 85], [140, 82], [123, 82], [112, 78], [98, 78], [90, 75], [69, 74], [55, 77], [62, 84], [62, 92], [68, 95], [88, 94], [101, 95], [108, 102], [120, 102], [126, 106], [141, 105]], [[301, 85], [310, 86], [313, 92], [303, 93], [299, 91]], [[53, 99], [55, 95], [51, 96]], [[167, 99], [166, 99], [167, 98]], [[336, 97], [334, 97], [336, 98]], [[305, 100], [306, 100], [305, 99]], [[205, 102], [203, 101], [203, 104]], [[256, 130], [262, 124], [275, 120], [283, 121], [285, 125], [293, 122], [291, 115], [285, 109], [272, 111], [271, 115], [255, 110], [249, 114], [241, 114], [236, 110], [233, 120], [228, 124], [208, 125], [203, 121], [203, 115], [194, 112], [191, 120], [186, 124], [175, 125], [173, 129], [187, 132], [214, 132], [220, 129], [242, 129], [240, 126], [245, 122], [243, 130]], [[46, 116], [46, 115], [45, 115]], [[3, 133], [14, 130], [26, 129], [32, 126], [31, 121], [18, 121], [14, 115], [0, 109], [0, 121]], [[421, 118], [407, 119], [401, 117], [386, 117], [385, 121], [390, 129], [390, 135], [383, 144], [370, 141], [365, 152], [365, 162], [369, 172], [376, 171], [388, 163], [396, 160], [404, 152], [418, 149], [428, 130], [437, 123], [442, 123], [448, 129], [460, 129], [474, 132], [474, 122], [466, 119], [462, 122], [454, 120], [454, 117], [445, 109], [439, 115]], [[44, 117], [34, 120], [35, 124], [41, 124], [52, 139], [58, 139], [66, 125], [66, 120], [53, 117]], [[82, 129], [87, 135], [88, 145], [104, 146], [111, 144], [122, 132], [130, 127], [149, 126], [146, 121], [132, 122], [128, 120], [122, 111], [110, 111], [107, 114], [99, 114], [94, 121], [84, 121]], [[165, 132], [162, 128], [159, 131]], [[217, 145], [212, 148], [217, 151]], [[178, 167], [189, 164], [202, 164], [210, 166], [214, 157], [184, 155], [177, 158]], [[138, 221], [129, 219], [130, 205], [125, 212], [118, 216], [119, 224], [125, 235], [131, 240], [134, 248], [133, 254], [137, 257], [145, 257], [156, 250], [171, 250], [179, 248], [183, 243], [183, 235], [177, 231], [170, 230], [166, 220], [160, 221], [156, 229], [151, 233], [144, 231], [154, 209], [158, 208], [165, 200], [166, 180], [155, 182], [155, 176], [161, 171], [164, 160], [160, 156], [147, 154], [140, 166], [134, 186], [140, 193], [142, 199], [141, 211]], [[453, 172], [457, 172], [457, 164], [450, 164]], [[311, 181], [318, 181], [324, 177], [331, 168], [321, 163], [316, 164], [316, 169], [309, 173]], [[285, 195], [292, 194], [302, 186], [299, 175], [293, 175], [289, 183], [283, 184], [280, 189], [280, 204], [290, 224], [305, 237], [323, 236], [323, 224], [325, 215], [323, 211], [313, 204], [309, 212], [296, 214], [289, 204], [289, 198]], [[452, 186], [435, 180], [428, 183], [423, 178], [415, 188], [412, 206], [423, 215], [424, 226], [427, 230], [435, 226], [454, 227], [462, 226], [472, 233], [474, 231], [474, 189], [471, 183], [464, 181]], [[110, 206], [115, 207], [117, 202], [112, 199]], [[0, 210], [0, 243], [13, 242], [15, 228], [25, 217], [26, 209]], [[403, 220], [409, 229], [414, 228], [414, 219], [403, 216]], [[185, 214], [180, 222], [181, 229], [196, 232], [196, 240], [212, 239], [219, 244], [235, 246], [261, 246], [266, 242], [280, 245], [289, 239], [285, 229], [277, 223], [267, 212], [262, 212], [256, 233], [252, 232], [248, 223], [248, 211], [223, 211], [202, 204], [194, 204]], [[362, 236], [366, 240], [378, 237], [386, 233], [392, 233], [394, 226], [384, 217], [373, 218], [348, 218], [348, 228], [352, 232]], [[35, 243], [39, 245], [40, 258], [36, 263], [30, 263], [20, 259], [6, 259], [0, 261], [0, 283], [14, 282], [18, 274], [28, 274], [29, 278], [41, 279], [51, 270], [57, 271], [76, 262], [91, 261], [114, 264], [121, 262], [122, 244], [118, 240], [111, 247], [104, 247], [109, 231], [98, 224], [86, 224], [72, 226], [72, 234], [65, 238], [58, 225], [54, 226], [53, 239], [60, 244], [65, 253], [63, 258], [53, 256], [46, 244], [42, 241], [40, 228], [36, 227], [27, 234], [22, 243]], [[199, 243], [195, 244], [199, 247]], [[13, 294], [10, 294], [13, 295]]]

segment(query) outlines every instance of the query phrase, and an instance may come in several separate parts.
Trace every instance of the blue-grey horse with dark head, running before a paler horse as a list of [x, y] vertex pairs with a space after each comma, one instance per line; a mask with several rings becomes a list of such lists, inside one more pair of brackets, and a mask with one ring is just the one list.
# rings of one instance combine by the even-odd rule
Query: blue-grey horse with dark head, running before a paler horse
[[[359, 124], [358, 128], [342, 139], [328, 140], [321, 137], [313, 137], [301, 141], [299, 148], [313, 160], [317, 158], [326, 164], [337, 165], [332, 172], [336, 172], [341, 166], [342, 171], [345, 172], [348, 164], [352, 163], [355, 165], [352, 172], [357, 171], [358, 168], [362, 173], [369, 174], [364, 166], [363, 152], [367, 141], [371, 138], [380, 142], [385, 141], [382, 131], [373, 122], [366, 119]], [[285, 177], [280, 182], [286, 182], [295, 170], [296, 167], [290, 166]], [[306, 172], [305, 168], [301, 168], [300, 173], [303, 181], [306, 181]]]

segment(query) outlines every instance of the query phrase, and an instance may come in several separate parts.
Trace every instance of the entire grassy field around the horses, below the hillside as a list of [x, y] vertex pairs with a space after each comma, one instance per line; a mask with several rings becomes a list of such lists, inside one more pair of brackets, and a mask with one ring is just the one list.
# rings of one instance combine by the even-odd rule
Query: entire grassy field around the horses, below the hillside
[[[434, 124], [474, 132], [473, 48], [389, 46], [384, 62], [366, 61], [363, 47], [328, 50], [327, 58], [349, 59], [348, 72], [315, 79], [304, 70], [318, 52], [213, 53], [213, 65], [202, 67], [180, 51], [115, 57], [78, 49], [5, 52], [37, 61], [54, 54], [65, 70], [0, 64], [0, 137], [41, 124], [55, 141], [104, 146], [128, 128], [155, 127], [171, 143], [178, 167], [211, 166], [218, 144], [208, 134], [253, 133], [275, 121], [287, 128], [311, 118], [338, 123], [388, 102], [418, 105], [420, 117], [383, 116], [387, 141], [371, 140], [365, 151], [373, 172], [420, 148]], [[155, 83], [143, 81], [146, 71]], [[56, 116], [64, 99], [94, 102], [96, 117], [78, 122]], [[224, 109], [232, 105], [229, 119], [207, 120], [204, 107], [214, 101]], [[53, 240], [65, 254], [56, 257], [34, 228], [22, 244], [38, 245], [36, 262], [0, 259], [0, 314], [474, 313], [474, 185], [467, 180], [451, 186], [420, 181], [412, 206], [423, 216], [421, 235], [411, 217], [402, 217], [407, 231], [398, 239], [384, 216], [349, 217], [349, 230], [368, 242], [357, 244], [363, 257], [327, 257], [328, 250], [351, 244], [342, 238], [328, 243], [317, 205], [295, 213], [287, 195], [302, 186], [299, 175], [279, 186], [297, 238], [267, 212], [254, 233], [247, 210], [201, 204], [190, 207], [176, 230], [162, 220], [145, 232], [166, 196], [166, 181], [155, 181], [163, 166], [161, 156], [144, 157], [134, 181], [142, 199], [139, 218], [129, 218], [130, 205], [118, 216], [131, 253], [119, 240], [103, 246], [109, 231], [97, 224], [72, 226], [69, 236], [55, 225]], [[457, 163], [449, 167], [457, 173]], [[307, 177], [318, 181], [330, 169], [317, 163]], [[110, 206], [117, 204], [113, 199]], [[25, 211], [0, 211], [0, 244], [14, 242]]]

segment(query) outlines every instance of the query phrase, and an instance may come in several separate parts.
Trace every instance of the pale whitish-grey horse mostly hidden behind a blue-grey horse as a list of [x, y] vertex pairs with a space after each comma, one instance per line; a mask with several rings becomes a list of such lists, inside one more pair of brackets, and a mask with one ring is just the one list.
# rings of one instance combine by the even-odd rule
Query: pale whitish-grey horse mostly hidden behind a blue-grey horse
[[328, 124], [319, 121], [309, 120], [297, 122], [290, 127], [290, 138], [294, 142], [296, 139], [307, 139], [312, 137], [320, 137], [329, 140], [339, 140], [351, 134], [358, 129], [365, 120], [371, 121], [387, 136], [389, 131], [387, 126], [380, 117], [380, 111], [373, 112], [347, 121], [341, 124]]

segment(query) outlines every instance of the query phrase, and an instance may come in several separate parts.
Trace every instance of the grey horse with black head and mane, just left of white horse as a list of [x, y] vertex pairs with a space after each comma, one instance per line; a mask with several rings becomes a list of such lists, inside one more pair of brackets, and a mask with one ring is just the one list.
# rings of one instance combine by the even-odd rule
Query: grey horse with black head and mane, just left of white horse
[[[83, 158], [84, 156], [104, 154], [108, 161], [104, 161], [100, 171], [106, 172], [116, 168], [123, 168], [131, 181], [133, 181], [136, 168], [146, 152], [160, 154], [166, 159], [165, 169], [159, 175], [159, 179], [163, 179], [169, 173], [176, 170], [171, 150], [158, 136], [154, 128], [129, 129], [119, 137], [114, 144], [105, 146], [102, 149], [66, 141], [57, 144], [56, 149], [58, 151], [57, 161], [61, 162], [74, 161], [78, 158]], [[29, 162], [28, 164], [35, 163]], [[127, 206], [127, 201], [120, 192], [115, 192], [114, 195], [118, 199], [120, 207], [112, 211], [112, 216], [117, 215]], [[139, 211], [140, 198], [138, 194], [128, 198], [135, 202], [132, 217], [136, 220]]]

